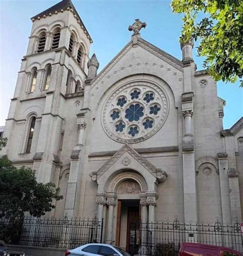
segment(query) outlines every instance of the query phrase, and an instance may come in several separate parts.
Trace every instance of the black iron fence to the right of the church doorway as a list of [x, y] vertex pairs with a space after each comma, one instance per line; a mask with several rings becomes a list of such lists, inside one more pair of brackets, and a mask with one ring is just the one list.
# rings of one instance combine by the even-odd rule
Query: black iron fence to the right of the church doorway
[[173, 223], [130, 224], [129, 253], [132, 255], [178, 255], [182, 242], [225, 246], [242, 251], [243, 237], [238, 222], [232, 226], [223, 226], [218, 221], [214, 225], [193, 225], [177, 220]]

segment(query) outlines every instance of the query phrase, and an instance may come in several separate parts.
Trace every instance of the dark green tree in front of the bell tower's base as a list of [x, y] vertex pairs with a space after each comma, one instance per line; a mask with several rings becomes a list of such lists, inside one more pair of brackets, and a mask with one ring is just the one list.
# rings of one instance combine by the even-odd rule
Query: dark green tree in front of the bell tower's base
[[[0, 140], [0, 147], [6, 146]], [[53, 183], [38, 183], [35, 171], [17, 169], [6, 155], [0, 158], [0, 217], [22, 218], [25, 212], [40, 217], [55, 208], [53, 201], [63, 199]]]

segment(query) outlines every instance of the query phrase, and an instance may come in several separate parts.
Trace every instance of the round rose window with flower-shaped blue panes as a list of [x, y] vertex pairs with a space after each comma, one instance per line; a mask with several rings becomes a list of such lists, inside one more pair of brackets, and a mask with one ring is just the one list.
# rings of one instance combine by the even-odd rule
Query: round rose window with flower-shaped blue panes
[[111, 139], [136, 143], [148, 139], [165, 123], [168, 98], [156, 84], [126, 84], [108, 97], [102, 114], [102, 125]]

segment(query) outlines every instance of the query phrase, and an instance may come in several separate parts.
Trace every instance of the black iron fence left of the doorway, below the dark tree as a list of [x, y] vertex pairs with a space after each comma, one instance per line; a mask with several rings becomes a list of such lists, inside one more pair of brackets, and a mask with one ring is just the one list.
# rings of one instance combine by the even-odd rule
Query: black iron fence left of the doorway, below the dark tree
[[75, 248], [102, 242], [103, 220], [93, 219], [0, 219], [0, 240], [8, 244]]

